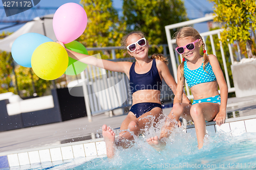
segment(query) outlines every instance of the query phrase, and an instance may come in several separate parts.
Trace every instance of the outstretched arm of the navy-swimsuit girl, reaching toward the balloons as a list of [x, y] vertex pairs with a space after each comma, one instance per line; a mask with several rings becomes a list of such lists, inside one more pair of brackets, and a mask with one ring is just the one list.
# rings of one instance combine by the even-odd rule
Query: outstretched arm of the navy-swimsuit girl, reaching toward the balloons
[[75, 60], [78, 60], [86, 64], [94, 65], [96, 67], [104, 68], [110, 71], [124, 72], [126, 75], [129, 75], [129, 69], [132, 65], [131, 62], [113, 62], [109, 60], [98, 59], [94, 56], [73, 52], [67, 49], [62, 42], [57, 41], [57, 43], [65, 47], [69, 57]]

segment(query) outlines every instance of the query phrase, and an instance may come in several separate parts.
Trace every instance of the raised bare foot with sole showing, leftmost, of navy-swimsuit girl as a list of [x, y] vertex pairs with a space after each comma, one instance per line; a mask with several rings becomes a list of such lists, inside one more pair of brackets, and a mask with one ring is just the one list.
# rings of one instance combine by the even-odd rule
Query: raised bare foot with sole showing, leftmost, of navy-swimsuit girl
[[108, 156], [108, 158], [112, 158], [114, 156], [116, 134], [113, 130], [110, 129], [110, 127], [106, 127], [106, 125], [103, 125], [101, 129], [104, 141], [106, 143], [106, 156]]

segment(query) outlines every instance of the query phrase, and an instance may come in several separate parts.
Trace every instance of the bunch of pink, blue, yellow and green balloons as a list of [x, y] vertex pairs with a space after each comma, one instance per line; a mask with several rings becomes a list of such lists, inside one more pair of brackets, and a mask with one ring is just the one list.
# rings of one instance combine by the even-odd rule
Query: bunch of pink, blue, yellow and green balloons
[[[86, 11], [75, 3], [60, 6], [53, 16], [53, 30], [57, 40], [65, 43], [72, 51], [88, 55], [86, 48], [75, 41], [86, 26]], [[19, 36], [13, 42], [11, 52], [19, 65], [32, 67], [35, 74], [45, 80], [57, 79], [64, 73], [77, 75], [87, 67], [87, 64], [69, 57], [59, 43], [37, 33]]]

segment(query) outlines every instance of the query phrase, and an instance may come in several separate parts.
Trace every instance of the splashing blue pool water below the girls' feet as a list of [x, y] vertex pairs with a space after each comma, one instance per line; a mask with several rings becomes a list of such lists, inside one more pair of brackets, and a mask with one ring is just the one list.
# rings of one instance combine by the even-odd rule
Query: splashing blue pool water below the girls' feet
[[[180, 129], [180, 128], [179, 128]], [[197, 149], [197, 140], [182, 130], [169, 137], [163, 151], [156, 151], [136, 138], [129, 149], [117, 149], [116, 157], [85, 161], [84, 158], [34, 164], [10, 169], [255, 169], [256, 133], [245, 133], [232, 137], [218, 132], [207, 137], [204, 147]], [[7, 168], [9, 169], [9, 168]]]

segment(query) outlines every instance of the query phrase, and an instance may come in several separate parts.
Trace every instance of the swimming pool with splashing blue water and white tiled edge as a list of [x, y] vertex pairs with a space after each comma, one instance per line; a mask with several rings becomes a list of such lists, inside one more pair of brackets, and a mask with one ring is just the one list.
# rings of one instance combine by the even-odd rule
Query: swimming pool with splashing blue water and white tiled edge
[[[134, 147], [118, 149], [108, 160], [102, 138], [51, 145], [30, 150], [1, 153], [2, 169], [222, 169], [255, 168], [256, 106], [228, 108], [221, 127], [207, 123], [209, 134], [202, 150], [197, 149], [194, 125], [179, 128], [168, 139], [166, 149], [157, 152], [145, 142], [156, 135], [153, 129], [145, 138], [136, 138]], [[186, 132], [186, 133], [184, 133]], [[148, 136], [147, 136], [148, 135]], [[96, 135], [99, 136], [99, 135]], [[6, 155], [6, 156], [5, 156]], [[5, 168], [6, 167], [6, 168]]]

